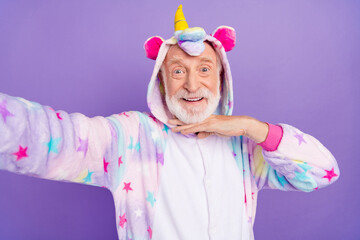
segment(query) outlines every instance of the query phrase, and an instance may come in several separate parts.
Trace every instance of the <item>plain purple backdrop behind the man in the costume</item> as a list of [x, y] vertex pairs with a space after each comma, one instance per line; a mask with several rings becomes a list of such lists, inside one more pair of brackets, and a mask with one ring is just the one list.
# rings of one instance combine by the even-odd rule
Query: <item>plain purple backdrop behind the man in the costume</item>
[[[182, 1], [191, 27], [237, 30], [236, 115], [288, 123], [336, 157], [312, 193], [263, 190], [255, 239], [359, 239], [360, 2]], [[0, 0], [0, 91], [56, 110], [147, 111], [144, 41], [173, 34], [175, 1]], [[1, 136], [0, 136], [1, 137]], [[117, 239], [111, 193], [0, 172], [0, 239]]]

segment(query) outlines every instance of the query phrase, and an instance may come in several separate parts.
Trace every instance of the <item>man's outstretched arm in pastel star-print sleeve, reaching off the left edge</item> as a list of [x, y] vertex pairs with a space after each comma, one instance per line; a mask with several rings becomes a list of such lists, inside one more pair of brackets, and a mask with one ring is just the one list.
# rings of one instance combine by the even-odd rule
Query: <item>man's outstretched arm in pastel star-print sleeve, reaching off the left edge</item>
[[122, 118], [55, 112], [0, 93], [0, 169], [111, 189], [127, 146]]

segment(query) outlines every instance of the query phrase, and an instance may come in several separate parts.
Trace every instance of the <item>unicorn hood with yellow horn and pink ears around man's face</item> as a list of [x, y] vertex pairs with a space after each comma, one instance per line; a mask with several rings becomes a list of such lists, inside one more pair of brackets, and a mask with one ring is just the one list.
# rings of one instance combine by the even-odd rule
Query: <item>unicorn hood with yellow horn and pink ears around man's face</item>
[[231, 115], [233, 110], [233, 87], [226, 52], [235, 46], [235, 30], [228, 26], [220, 26], [212, 34], [207, 34], [201, 27], [189, 28], [182, 12], [182, 5], [176, 11], [174, 22], [175, 33], [171, 38], [164, 40], [160, 36], [154, 36], [148, 38], [144, 44], [146, 56], [155, 60], [147, 91], [147, 104], [151, 113], [167, 125], [168, 120], [173, 118], [164, 101], [164, 91], [158, 78], [158, 73], [169, 48], [174, 44], [178, 44], [190, 56], [199, 56], [205, 49], [204, 41], [207, 41], [217, 52], [223, 66], [220, 79], [222, 85], [221, 97], [214, 114]]

